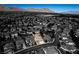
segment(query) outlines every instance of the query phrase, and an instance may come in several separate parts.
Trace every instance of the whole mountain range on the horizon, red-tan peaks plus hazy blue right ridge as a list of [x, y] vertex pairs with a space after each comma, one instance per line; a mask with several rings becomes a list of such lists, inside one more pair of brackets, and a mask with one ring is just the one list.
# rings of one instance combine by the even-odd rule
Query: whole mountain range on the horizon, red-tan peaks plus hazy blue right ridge
[[[17, 8], [17, 7], [6, 7], [6, 6], [0, 6], [0, 11], [29, 11], [29, 12], [51, 12], [55, 13], [55, 10], [50, 10], [48, 8]], [[62, 14], [79, 14], [79, 11], [66, 11], [61, 12]]]

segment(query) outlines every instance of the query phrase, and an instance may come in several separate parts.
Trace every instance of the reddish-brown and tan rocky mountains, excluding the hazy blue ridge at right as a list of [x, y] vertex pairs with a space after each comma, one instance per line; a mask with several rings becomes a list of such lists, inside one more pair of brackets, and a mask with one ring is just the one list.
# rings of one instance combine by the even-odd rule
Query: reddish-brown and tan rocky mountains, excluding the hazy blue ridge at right
[[21, 8], [17, 8], [17, 7], [5, 7], [5, 6], [0, 6], [0, 11], [54, 12], [54, 11], [49, 10], [48, 8], [21, 9]]

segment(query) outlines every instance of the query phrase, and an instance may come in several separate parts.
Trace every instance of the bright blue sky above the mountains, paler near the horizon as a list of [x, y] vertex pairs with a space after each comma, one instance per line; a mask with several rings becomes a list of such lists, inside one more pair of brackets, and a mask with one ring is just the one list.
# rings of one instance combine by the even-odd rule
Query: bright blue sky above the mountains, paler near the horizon
[[48, 8], [56, 12], [79, 11], [79, 4], [3, 4], [1, 6], [17, 8]]

